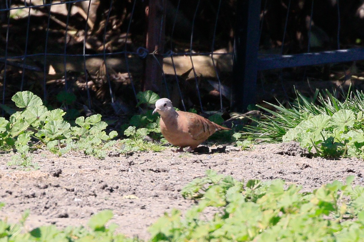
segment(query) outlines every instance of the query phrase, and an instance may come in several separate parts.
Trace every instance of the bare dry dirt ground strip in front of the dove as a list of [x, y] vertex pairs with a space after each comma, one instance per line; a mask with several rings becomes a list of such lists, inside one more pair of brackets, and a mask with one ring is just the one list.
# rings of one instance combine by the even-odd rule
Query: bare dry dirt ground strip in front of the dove
[[[172, 208], [187, 210], [192, 201], [180, 190], [207, 169], [236, 179], [284, 179], [313, 190], [333, 180], [355, 175], [362, 184], [364, 162], [357, 159], [309, 158], [295, 143], [257, 145], [250, 151], [227, 147], [225, 153], [135, 153], [97, 160], [82, 153], [57, 157], [35, 155], [40, 169], [21, 171], [7, 167], [10, 155], [0, 156], [0, 219], [17, 222], [31, 210], [26, 229], [55, 224], [84, 225], [103, 209], [113, 210], [118, 232], [149, 238], [147, 227]], [[303, 156], [303, 157], [301, 157]]]

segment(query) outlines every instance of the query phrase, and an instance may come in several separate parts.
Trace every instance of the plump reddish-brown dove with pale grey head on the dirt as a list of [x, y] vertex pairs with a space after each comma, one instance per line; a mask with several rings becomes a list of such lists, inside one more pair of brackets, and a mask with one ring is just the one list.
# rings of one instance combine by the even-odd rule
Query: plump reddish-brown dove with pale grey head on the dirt
[[184, 147], [190, 147], [187, 151], [192, 151], [216, 131], [230, 130], [200, 115], [175, 111], [172, 102], [167, 98], [155, 102], [153, 114], [155, 112], [161, 115], [159, 124], [162, 135], [169, 143], [180, 147], [177, 151], [183, 151]]

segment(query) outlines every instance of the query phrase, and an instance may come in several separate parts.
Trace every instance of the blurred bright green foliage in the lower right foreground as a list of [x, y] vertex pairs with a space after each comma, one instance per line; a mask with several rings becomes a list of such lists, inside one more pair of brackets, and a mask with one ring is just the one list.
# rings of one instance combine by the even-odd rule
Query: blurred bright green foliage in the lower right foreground
[[[151, 241], [361, 241], [364, 188], [353, 188], [353, 179], [302, 193], [281, 180], [244, 184], [207, 171], [182, 190], [198, 205], [185, 216], [173, 210], [159, 218]], [[206, 217], [209, 207], [216, 212]]]

